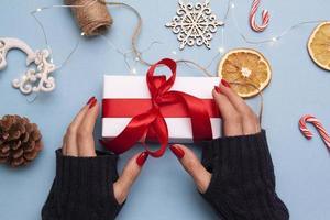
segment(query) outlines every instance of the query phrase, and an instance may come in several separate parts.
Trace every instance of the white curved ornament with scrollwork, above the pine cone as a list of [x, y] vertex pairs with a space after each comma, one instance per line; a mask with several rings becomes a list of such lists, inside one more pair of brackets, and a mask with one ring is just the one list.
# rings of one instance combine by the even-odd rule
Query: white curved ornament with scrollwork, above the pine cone
[[29, 68], [20, 79], [14, 79], [12, 86], [24, 95], [40, 91], [53, 91], [55, 89], [55, 78], [50, 76], [55, 69], [55, 65], [50, 62], [51, 53], [48, 50], [35, 51], [21, 40], [0, 38], [0, 70], [7, 66], [7, 53], [11, 48], [19, 48], [24, 52], [26, 66], [35, 64], [35, 67]]

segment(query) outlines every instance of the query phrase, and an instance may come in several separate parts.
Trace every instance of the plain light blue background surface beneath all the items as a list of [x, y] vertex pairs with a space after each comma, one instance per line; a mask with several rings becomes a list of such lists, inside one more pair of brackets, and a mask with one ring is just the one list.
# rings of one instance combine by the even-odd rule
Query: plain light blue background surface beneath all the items
[[[177, 1], [130, 0], [143, 20], [140, 48], [160, 41], [143, 56], [151, 62], [162, 57], [185, 57], [208, 65], [221, 45], [221, 30], [215, 34], [212, 48], [178, 50], [176, 36], [164, 24], [176, 12]], [[34, 50], [44, 48], [41, 29], [30, 11], [44, 6], [61, 4], [61, 0], [1, 0], [0, 35], [19, 37]], [[248, 25], [251, 1], [235, 1], [234, 13], [241, 32], [250, 38], [273, 37], [300, 21], [329, 18], [330, 1], [268, 0], [263, 8], [271, 11], [271, 25], [262, 34], [253, 33]], [[227, 1], [211, 1], [213, 12], [222, 18]], [[122, 48], [130, 48], [130, 36], [136, 24], [135, 16], [123, 8], [111, 7], [114, 24], [107, 38]], [[261, 11], [260, 11], [261, 13]], [[79, 37], [79, 31], [67, 9], [53, 9], [37, 14], [42, 20], [54, 62], [61, 64]], [[285, 35], [274, 44], [249, 45], [242, 41], [232, 16], [224, 28], [224, 48], [253, 47], [261, 51], [273, 67], [273, 79], [264, 92], [265, 111], [263, 127], [267, 130], [275, 172], [277, 193], [290, 210], [293, 220], [330, 219], [330, 158], [321, 139], [316, 135], [307, 141], [298, 130], [298, 120], [305, 113], [312, 113], [330, 128], [330, 76], [318, 68], [306, 50], [309, 34], [316, 24], [308, 24]], [[177, 52], [175, 55], [173, 51]], [[217, 63], [209, 70], [216, 73]], [[18, 113], [29, 117], [40, 125], [44, 151], [28, 167], [13, 169], [0, 167], [0, 219], [40, 219], [40, 210], [47, 197], [55, 172], [55, 148], [61, 146], [62, 136], [72, 118], [87, 99], [96, 95], [101, 99], [103, 74], [129, 74], [123, 57], [101, 37], [82, 40], [70, 62], [54, 76], [57, 88], [52, 94], [41, 95], [29, 103], [26, 98], [11, 87], [11, 80], [26, 68], [25, 55], [10, 52], [8, 68], [0, 73], [0, 116]], [[146, 67], [134, 64], [138, 74]], [[186, 73], [186, 74], [182, 74]], [[179, 75], [200, 73], [187, 66], [179, 67]], [[249, 101], [257, 108], [257, 99]], [[100, 120], [96, 138], [100, 138]], [[312, 129], [312, 131], [315, 131]], [[198, 154], [200, 148], [191, 146]], [[124, 154], [120, 168], [141, 146]], [[216, 219], [212, 209], [201, 199], [190, 177], [184, 172], [173, 154], [150, 158], [141, 178], [133, 186], [127, 205], [118, 219]]]

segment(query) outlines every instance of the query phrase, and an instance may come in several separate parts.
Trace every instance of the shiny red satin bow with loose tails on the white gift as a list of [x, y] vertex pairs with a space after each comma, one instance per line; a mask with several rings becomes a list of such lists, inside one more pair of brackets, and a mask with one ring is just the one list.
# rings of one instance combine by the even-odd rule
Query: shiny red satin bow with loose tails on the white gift
[[[172, 76], [154, 76], [157, 66], [165, 65], [172, 70]], [[191, 119], [194, 141], [211, 140], [212, 128], [210, 114], [205, 102], [182, 91], [169, 90], [176, 78], [176, 63], [173, 59], [164, 58], [151, 66], [146, 75], [146, 82], [151, 94], [151, 109], [146, 112], [134, 116], [127, 128], [112, 140], [102, 140], [102, 144], [110, 151], [121, 154], [146, 136], [156, 136], [161, 143], [157, 151], [146, 151], [154, 157], [161, 157], [168, 144], [168, 130], [161, 111], [162, 107], [182, 103]]]

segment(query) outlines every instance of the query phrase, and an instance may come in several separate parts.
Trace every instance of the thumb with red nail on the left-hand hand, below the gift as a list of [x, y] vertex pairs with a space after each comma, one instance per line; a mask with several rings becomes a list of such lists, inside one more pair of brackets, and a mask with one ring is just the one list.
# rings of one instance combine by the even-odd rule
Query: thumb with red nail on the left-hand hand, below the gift
[[142, 166], [147, 157], [147, 152], [135, 154], [124, 166], [122, 175], [113, 184], [113, 194], [118, 204], [121, 205], [127, 199], [130, 189], [140, 175]]

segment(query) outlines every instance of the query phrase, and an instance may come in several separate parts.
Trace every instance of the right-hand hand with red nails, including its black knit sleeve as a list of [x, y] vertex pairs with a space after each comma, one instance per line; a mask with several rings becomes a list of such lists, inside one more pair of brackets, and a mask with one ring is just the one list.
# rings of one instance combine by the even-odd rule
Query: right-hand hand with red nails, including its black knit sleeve
[[227, 81], [212, 95], [222, 116], [223, 136], [204, 144], [201, 163], [184, 145], [170, 150], [221, 219], [288, 219], [275, 191], [274, 167], [258, 118]]

